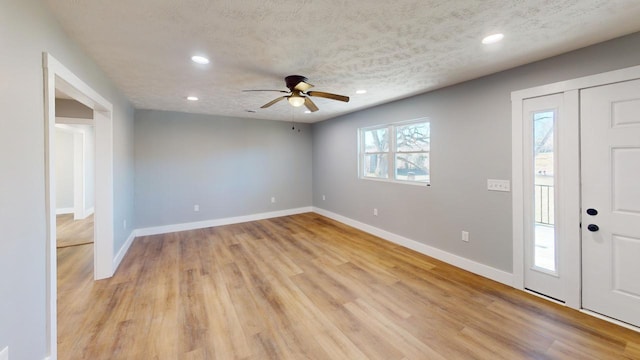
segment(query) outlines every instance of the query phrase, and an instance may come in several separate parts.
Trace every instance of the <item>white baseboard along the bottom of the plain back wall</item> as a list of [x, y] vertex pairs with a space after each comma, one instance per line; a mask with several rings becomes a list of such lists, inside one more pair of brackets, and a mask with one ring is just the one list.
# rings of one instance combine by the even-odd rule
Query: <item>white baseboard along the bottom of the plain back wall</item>
[[136, 236], [148, 236], [148, 235], [172, 233], [177, 231], [204, 229], [204, 228], [213, 227], [213, 226], [238, 224], [238, 223], [249, 222], [249, 221], [270, 219], [274, 217], [302, 214], [302, 213], [312, 212], [312, 211], [313, 211], [313, 207], [309, 206], [309, 207], [302, 207], [297, 209], [272, 211], [272, 212], [266, 212], [266, 213], [236, 216], [236, 217], [223, 218], [223, 219], [196, 221], [196, 222], [174, 224], [174, 225], [154, 226], [154, 227], [148, 227], [148, 228], [142, 228], [142, 229], [136, 230]]

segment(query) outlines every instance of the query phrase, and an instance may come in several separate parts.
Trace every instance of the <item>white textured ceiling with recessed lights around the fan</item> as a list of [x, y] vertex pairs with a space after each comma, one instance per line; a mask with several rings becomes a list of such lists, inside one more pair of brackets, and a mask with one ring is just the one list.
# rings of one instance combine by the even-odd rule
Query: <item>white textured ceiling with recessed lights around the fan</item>
[[[316, 122], [640, 30], [638, 0], [46, 0], [140, 109]], [[480, 40], [502, 32], [505, 39]], [[190, 61], [207, 55], [209, 65]], [[313, 90], [279, 102], [286, 75]], [[366, 89], [365, 95], [356, 95]], [[198, 102], [188, 102], [196, 95]], [[255, 110], [255, 113], [247, 112]]]

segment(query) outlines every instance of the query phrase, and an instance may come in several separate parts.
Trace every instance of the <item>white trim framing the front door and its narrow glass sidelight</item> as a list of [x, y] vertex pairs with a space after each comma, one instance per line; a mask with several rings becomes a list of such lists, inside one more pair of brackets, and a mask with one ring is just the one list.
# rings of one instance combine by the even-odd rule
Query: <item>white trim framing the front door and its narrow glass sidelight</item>
[[[565, 161], [563, 174], [560, 177], [560, 189], [565, 200], [558, 204], [560, 207], [560, 221], [565, 226], [563, 238], [567, 241], [569, 251], [567, 259], [563, 259], [566, 266], [567, 299], [566, 305], [581, 308], [581, 270], [580, 270], [580, 158], [579, 158], [579, 90], [594, 86], [606, 85], [630, 79], [640, 78], [640, 66], [633, 66], [621, 70], [602, 74], [585, 76], [577, 79], [561, 81], [553, 84], [518, 90], [511, 93], [511, 147], [512, 147], [512, 220], [513, 220], [513, 286], [524, 290], [524, 137], [526, 129], [523, 127], [522, 102], [528, 98], [551, 94], [564, 94], [565, 119], [569, 119], [561, 143], [564, 144]], [[574, 131], [575, 130], [575, 131]], [[569, 152], [567, 154], [567, 152]]]

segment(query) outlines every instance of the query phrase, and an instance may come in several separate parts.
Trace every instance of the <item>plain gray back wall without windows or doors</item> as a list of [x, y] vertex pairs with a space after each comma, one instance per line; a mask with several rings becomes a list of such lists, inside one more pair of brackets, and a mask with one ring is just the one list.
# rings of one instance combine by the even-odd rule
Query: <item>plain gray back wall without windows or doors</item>
[[[311, 206], [309, 125], [136, 111], [139, 228]], [[276, 203], [271, 203], [271, 197]], [[193, 206], [200, 205], [194, 212]]]

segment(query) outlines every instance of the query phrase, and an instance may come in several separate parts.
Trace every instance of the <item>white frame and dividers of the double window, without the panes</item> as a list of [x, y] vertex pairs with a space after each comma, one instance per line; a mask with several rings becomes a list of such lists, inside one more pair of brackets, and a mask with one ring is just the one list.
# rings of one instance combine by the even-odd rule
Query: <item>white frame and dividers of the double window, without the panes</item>
[[[418, 124], [418, 123], [426, 123], [429, 126], [429, 139], [431, 139], [431, 122], [429, 121], [429, 118], [426, 118], [426, 117], [400, 121], [396, 123], [380, 124], [380, 125], [359, 128], [358, 129], [358, 178], [362, 180], [373, 180], [373, 181], [391, 182], [391, 183], [398, 183], [398, 184], [431, 186], [431, 148], [429, 148], [429, 151], [397, 151], [396, 149], [396, 140], [397, 140], [396, 129], [398, 127], [411, 125], [411, 124]], [[367, 131], [372, 131], [377, 129], [387, 129], [387, 133], [389, 136], [388, 151], [366, 152], [364, 133]], [[425, 182], [425, 181], [416, 181], [416, 180], [397, 179], [396, 167], [395, 167], [396, 155], [397, 154], [416, 154], [416, 153], [427, 153], [429, 155], [429, 174], [428, 174], [427, 181]], [[365, 156], [371, 155], [371, 154], [387, 155], [388, 176], [386, 178], [365, 176], [364, 174], [365, 173], [364, 172]]]

